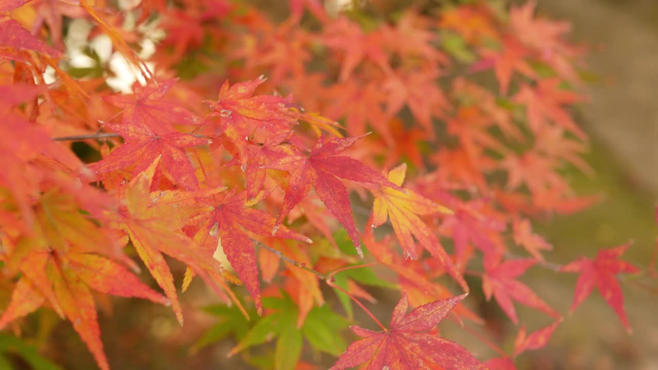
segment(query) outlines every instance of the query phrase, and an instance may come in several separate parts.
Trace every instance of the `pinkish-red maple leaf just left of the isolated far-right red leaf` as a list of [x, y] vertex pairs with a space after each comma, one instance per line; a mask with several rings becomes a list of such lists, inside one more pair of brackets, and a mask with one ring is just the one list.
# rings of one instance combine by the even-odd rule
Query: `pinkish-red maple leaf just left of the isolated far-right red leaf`
[[493, 296], [505, 315], [515, 324], [519, 323], [519, 319], [512, 300], [539, 309], [553, 317], [559, 317], [559, 313], [545, 304], [526, 284], [515, 280], [535, 263], [537, 263], [536, 259], [509, 259], [495, 266], [485, 263], [482, 291], [487, 300]]

